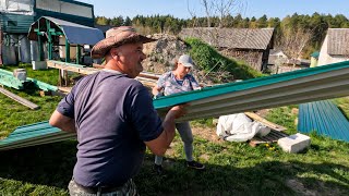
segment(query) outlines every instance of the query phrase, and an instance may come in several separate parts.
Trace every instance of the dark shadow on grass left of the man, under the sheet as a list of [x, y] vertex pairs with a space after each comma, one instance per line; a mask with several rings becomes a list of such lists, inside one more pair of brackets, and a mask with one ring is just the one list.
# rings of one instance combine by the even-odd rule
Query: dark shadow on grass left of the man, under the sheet
[[0, 151], [0, 177], [65, 189], [75, 154], [74, 140]]

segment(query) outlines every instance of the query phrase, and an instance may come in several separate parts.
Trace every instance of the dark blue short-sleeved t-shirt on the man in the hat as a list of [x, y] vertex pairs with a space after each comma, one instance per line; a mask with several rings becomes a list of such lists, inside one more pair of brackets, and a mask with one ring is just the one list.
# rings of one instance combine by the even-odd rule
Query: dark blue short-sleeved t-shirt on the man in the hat
[[115, 71], [83, 77], [57, 110], [75, 120], [79, 145], [73, 177], [84, 186], [125, 183], [141, 168], [144, 142], [164, 130], [147, 89]]

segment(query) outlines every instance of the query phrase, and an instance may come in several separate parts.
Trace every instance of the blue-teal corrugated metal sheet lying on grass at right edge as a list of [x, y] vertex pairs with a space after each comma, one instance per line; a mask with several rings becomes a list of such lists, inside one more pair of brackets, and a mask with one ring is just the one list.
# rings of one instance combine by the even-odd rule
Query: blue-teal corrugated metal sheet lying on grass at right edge
[[349, 142], [349, 122], [330, 100], [299, 105], [298, 131]]

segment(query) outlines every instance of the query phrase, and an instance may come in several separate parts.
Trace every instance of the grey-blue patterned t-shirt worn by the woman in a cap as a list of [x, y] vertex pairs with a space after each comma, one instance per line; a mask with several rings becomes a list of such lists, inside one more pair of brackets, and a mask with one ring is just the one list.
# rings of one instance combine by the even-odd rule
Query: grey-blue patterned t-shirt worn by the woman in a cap
[[157, 81], [157, 87], [164, 89], [165, 96], [201, 88], [196, 79], [191, 74], [186, 74], [183, 79], [177, 79], [171, 71], [166, 72], [159, 77]]

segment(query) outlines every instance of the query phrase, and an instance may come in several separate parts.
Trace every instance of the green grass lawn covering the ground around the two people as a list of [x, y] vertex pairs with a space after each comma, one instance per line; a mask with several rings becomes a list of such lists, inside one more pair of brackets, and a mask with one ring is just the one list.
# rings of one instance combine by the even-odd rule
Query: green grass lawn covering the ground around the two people
[[[57, 84], [55, 70], [35, 74], [28, 71], [29, 77]], [[61, 99], [39, 97], [36, 90], [11, 91], [41, 108], [31, 110], [0, 94], [0, 137], [16, 126], [48, 120]], [[336, 101], [348, 117], [349, 99]], [[266, 119], [287, 126], [289, 134], [297, 133], [292, 108], [297, 106], [273, 109]], [[312, 134], [312, 145], [306, 151], [287, 154], [277, 145], [270, 150], [264, 145], [253, 148], [246, 143], [209, 139], [204, 135], [215, 135], [215, 127], [206, 122], [192, 123], [193, 128], [202, 130], [195, 132], [194, 157], [206, 170], [184, 166], [183, 145], [177, 135], [166, 155], [165, 175], [153, 172], [154, 156], [147, 151], [134, 179], [141, 195], [348, 195], [348, 143]], [[67, 185], [76, 159], [75, 146], [75, 140], [65, 140], [0, 151], [0, 195], [69, 195]]]

